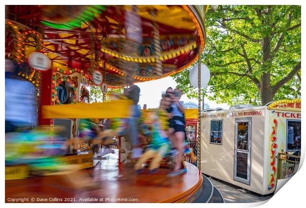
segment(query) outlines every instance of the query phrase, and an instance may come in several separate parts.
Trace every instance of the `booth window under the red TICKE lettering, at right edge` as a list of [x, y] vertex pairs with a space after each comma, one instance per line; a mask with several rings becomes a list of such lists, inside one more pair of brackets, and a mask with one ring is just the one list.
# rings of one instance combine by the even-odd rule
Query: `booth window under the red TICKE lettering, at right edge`
[[286, 150], [301, 150], [301, 121], [287, 120]]

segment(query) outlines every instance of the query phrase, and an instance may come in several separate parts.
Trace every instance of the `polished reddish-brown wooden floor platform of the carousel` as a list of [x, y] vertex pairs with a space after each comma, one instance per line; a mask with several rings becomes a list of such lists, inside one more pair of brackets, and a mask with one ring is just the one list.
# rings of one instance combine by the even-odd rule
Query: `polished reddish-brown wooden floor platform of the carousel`
[[[5, 201], [29, 203], [190, 203], [202, 191], [203, 177], [186, 163], [187, 173], [167, 177], [170, 169], [135, 175], [131, 164], [118, 168], [117, 154], [74, 175], [50, 175], [5, 181]], [[88, 185], [84, 187], [83, 185]], [[86, 184], [87, 183], [87, 184]], [[78, 185], [82, 185], [78, 186]], [[34, 200], [33, 200], [34, 199]], [[28, 200], [28, 201], [27, 201]]]

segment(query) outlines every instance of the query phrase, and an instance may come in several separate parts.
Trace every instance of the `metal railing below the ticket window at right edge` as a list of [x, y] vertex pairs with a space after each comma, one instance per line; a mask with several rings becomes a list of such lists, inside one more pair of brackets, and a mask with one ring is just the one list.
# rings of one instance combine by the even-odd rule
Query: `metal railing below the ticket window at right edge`
[[291, 177], [298, 172], [301, 160], [300, 154], [300, 152], [298, 155], [278, 153], [277, 179]]

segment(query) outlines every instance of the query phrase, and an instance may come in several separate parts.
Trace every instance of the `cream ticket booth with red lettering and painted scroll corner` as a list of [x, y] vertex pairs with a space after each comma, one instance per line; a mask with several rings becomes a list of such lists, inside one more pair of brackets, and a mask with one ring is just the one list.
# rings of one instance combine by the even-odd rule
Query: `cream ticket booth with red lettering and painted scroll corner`
[[301, 150], [301, 100], [202, 112], [202, 173], [266, 195], [276, 186], [278, 152]]

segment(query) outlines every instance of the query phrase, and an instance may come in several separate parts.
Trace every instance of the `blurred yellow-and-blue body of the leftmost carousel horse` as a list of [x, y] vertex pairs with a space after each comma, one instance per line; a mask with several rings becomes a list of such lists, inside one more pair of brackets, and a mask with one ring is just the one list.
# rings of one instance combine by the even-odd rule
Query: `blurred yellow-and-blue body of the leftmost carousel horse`
[[66, 139], [54, 131], [51, 134], [39, 129], [5, 135], [5, 165], [29, 165], [36, 174], [61, 171], [59, 157], [66, 150]]

